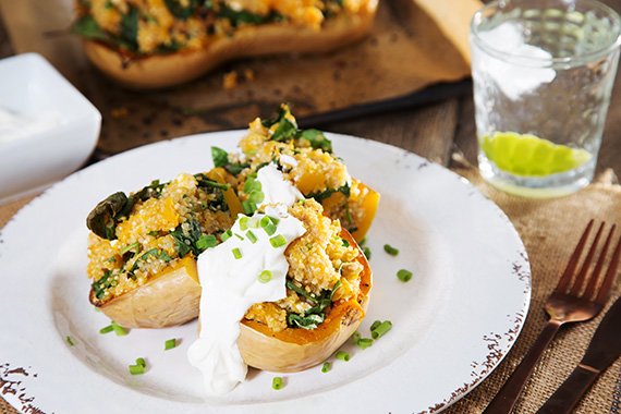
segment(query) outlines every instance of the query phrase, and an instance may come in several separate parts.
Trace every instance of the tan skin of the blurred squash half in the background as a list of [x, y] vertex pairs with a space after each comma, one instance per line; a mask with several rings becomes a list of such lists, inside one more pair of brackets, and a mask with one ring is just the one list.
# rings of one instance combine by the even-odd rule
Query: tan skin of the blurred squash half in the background
[[203, 49], [129, 57], [95, 40], [84, 40], [90, 62], [131, 89], [158, 89], [195, 80], [216, 66], [240, 58], [278, 53], [326, 52], [363, 38], [373, 24], [378, 0], [368, 0], [358, 13], [326, 22], [320, 31], [282, 24], [245, 26], [234, 36], [214, 40]]

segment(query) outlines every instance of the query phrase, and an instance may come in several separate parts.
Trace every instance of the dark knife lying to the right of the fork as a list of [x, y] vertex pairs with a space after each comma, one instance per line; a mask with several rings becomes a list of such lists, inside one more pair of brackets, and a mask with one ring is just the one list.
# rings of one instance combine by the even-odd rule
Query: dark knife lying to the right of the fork
[[597, 327], [584, 357], [538, 414], [571, 413], [599, 374], [621, 355], [621, 297]]

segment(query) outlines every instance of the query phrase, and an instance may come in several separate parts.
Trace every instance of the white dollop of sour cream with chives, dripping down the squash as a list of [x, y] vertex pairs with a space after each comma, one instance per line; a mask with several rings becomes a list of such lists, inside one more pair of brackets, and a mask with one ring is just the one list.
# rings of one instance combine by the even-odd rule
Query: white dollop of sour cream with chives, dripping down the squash
[[[288, 207], [303, 195], [272, 163], [257, 172], [265, 212], [240, 215], [223, 243], [198, 256], [200, 296], [198, 339], [187, 358], [204, 376], [208, 394], [231, 391], [245, 380], [238, 338], [240, 321], [255, 303], [287, 297], [287, 246], [306, 230]], [[263, 224], [263, 226], [261, 226]], [[273, 224], [273, 226], [271, 226]], [[271, 232], [271, 234], [268, 234]]]

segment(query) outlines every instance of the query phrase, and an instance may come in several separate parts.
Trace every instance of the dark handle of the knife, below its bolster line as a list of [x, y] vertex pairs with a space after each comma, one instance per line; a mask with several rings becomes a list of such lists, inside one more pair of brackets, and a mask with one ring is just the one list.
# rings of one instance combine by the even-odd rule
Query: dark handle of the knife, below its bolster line
[[592, 367], [576, 366], [568, 379], [539, 409], [537, 414], [571, 413], [598, 376], [599, 372]]

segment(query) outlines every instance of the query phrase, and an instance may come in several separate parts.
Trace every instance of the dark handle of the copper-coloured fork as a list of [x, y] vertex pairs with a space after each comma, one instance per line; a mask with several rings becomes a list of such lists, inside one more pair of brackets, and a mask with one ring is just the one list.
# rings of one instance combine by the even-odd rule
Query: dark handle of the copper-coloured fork
[[548, 324], [544, 327], [526, 356], [524, 356], [518, 368], [511, 374], [511, 377], [509, 377], [494, 400], [487, 405], [484, 414], [508, 414], [513, 411], [539, 357], [546, 348], [548, 348], [548, 344], [552, 341], [561, 325], [562, 324], [558, 320], [548, 320]]

